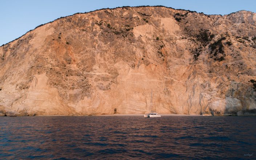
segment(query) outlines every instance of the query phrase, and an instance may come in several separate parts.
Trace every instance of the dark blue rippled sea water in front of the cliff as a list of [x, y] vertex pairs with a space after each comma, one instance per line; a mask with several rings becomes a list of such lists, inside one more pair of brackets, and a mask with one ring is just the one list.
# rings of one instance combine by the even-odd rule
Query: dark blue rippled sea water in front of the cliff
[[256, 159], [256, 117], [0, 117], [0, 159]]

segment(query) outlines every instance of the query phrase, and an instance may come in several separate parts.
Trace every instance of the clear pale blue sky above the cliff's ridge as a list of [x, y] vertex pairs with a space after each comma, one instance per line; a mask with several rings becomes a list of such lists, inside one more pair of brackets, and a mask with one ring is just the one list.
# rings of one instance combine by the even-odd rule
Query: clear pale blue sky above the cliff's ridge
[[0, 0], [0, 46], [59, 17], [140, 5], [163, 5], [207, 15], [227, 15], [240, 10], [256, 12], [256, 0]]

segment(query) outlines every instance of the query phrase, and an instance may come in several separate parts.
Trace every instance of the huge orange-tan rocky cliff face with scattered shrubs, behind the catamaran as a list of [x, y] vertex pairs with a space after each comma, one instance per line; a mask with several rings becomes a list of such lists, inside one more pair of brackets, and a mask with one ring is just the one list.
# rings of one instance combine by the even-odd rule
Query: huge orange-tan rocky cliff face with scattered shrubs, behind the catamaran
[[256, 114], [256, 13], [78, 13], [0, 47], [0, 115]]

